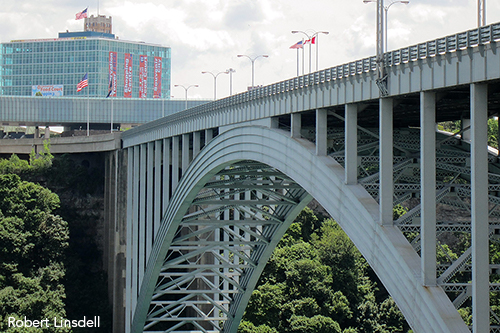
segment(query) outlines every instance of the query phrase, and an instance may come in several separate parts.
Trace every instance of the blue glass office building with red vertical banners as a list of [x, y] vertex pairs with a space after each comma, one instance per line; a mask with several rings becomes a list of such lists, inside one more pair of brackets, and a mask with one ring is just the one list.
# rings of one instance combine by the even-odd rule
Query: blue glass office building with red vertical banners
[[[105, 97], [114, 77], [116, 97], [170, 99], [170, 70], [169, 47], [124, 41], [109, 33], [67, 32], [59, 38], [0, 44], [4, 96], [32, 96], [34, 86], [53, 86], [62, 88], [64, 96]], [[89, 87], [77, 92], [85, 73]]]

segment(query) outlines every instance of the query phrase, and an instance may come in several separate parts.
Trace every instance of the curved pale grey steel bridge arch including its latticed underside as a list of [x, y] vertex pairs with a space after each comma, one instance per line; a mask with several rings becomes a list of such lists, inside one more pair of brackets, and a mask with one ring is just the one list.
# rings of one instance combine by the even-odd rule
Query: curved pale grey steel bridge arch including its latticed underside
[[[270, 195], [260, 198], [273, 198], [273, 208], [266, 206], [269, 209], [239, 211], [239, 220], [245, 221], [240, 223], [241, 229], [237, 223], [217, 229], [219, 227], [214, 226], [215, 222], [212, 220], [201, 229], [189, 227], [192, 226], [189, 222], [193, 222], [196, 217], [209, 215], [208, 205], [213, 204], [214, 200], [238, 197], [239, 201], [248, 204], [245, 194], [234, 189], [241, 189], [247, 184], [248, 188], [244, 190], [248, 192], [252, 186], [256, 188], [255, 183], [245, 179], [238, 185], [227, 185], [223, 178], [245, 165], [249, 169], [243, 168], [232, 180], [240, 179], [245, 170], [265, 170], [254, 178], [259, 179], [260, 185], [265, 183], [263, 179], [279, 179], [278, 182], [271, 181], [274, 186], [265, 189], [267, 192], [264, 193]], [[214, 177], [219, 181], [214, 181]], [[441, 287], [422, 286], [420, 257], [400, 230], [395, 226], [382, 226], [379, 223], [377, 202], [361, 185], [346, 185], [344, 179], [343, 167], [333, 158], [316, 155], [314, 144], [290, 138], [289, 133], [280, 130], [258, 126], [238, 127], [214, 138], [192, 161], [171, 198], [148, 259], [132, 332], [158, 331], [155, 325], [165, 332], [174, 331], [183, 325], [190, 325], [191, 329], [201, 332], [217, 332], [218, 322], [223, 320], [222, 317], [227, 318], [223, 332], [236, 332], [267, 259], [311, 197], [328, 211], [351, 238], [415, 332], [469, 332]], [[225, 187], [207, 189], [207, 184], [212, 186], [223, 183], [226, 184]], [[288, 187], [279, 187], [277, 184], [287, 184]], [[211, 195], [200, 199], [200, 193], [207, 192]], [[258, 197], [255, 199], [255, 205], [262, 204]], [[286, 205], [282, 206], [280, 202]], [[234, 219], [234, 205], [234, 201], [226, 200], [214, 211], [219, 213], [219, 218], [224, 211], [226, 214], [233, 212], [228, 215], [233, 214]], [[271, 210], [273, 214], [269, 214]], [[264, 221], [263, 226], [245, 227], [244, 225], [251, 223], [245, 219], [245, 214], [253, 214], [253, 217], [259, 215]], [[279, 220], [279, 223], [274, 219]], [[187, 228], [182, 225], [186, 221]], [[275, 227], [271, 226], [274, 222]], [[231, 241], [217, 238], [222, 228], [233, 233]], [[199, 244], [196, 245], [193, 242], [193, 237], [196, 236], [191, 235], [201, 235], [204, 230], [212, 232], [211, 236], [205, 235], [201, 242], [198, 239]], [[214, 236], [214, 230], [219, 236]], [[245, 236], [236, 242], [240, 234]], [[245, 239], [249, 242], [245, 243]], [[189, 240], [191, 243], [182, 243]], [[250, 240], [262, 243], [263, 246], [245, 248]], [[217, 241], [226, 247], [217, 250], [222, 251], [218, 252], [219, 258], [200, 259], [203, 251], [215, 253]], [[191, 247], [188, 249], [186, 244]], [[173, 250], [175, 246], [177, 249]], [[230, 253], [229, 246], [240, 246], [242, 250], [239, 254], [236, 251]], [[195, 248], [200, 249], [199, 252]], [[228, 255], [224, 257], [223, 252]], [[189, 253], [191, 254], [188, 256]], [[233, 268], [222, 265], [229, 256], [238, 257]], [[181, 263], [188, 265], [181, 269]], [[203, 268], [197, 269], [192, 264]], [[206, 269], [210, 265], [213, 267]], [[169, 269], [173, 272], [170, 276]], [[197, 292], [195, 285], [208, 286], [208, 290]], [[225, 286], [222, 289], [228, 291], [228, 294], [219, 295], [216, 299], [213, 288], [217, 286]], [[169, 293], [170, 296], [166, 296]], [[181, 304], [182, 302], [184, 303]], [[185, 304], [189, 302], [197, 307], [186, 310]], [[200, 323], [195, 320], [196, 317], [205, 317], [206, 320]]]

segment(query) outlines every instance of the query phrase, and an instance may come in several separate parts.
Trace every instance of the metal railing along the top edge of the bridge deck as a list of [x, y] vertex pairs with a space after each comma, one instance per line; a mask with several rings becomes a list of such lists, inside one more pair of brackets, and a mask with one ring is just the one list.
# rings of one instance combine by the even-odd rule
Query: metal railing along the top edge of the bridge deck
[[[387, 66], [395, 66], [411, 61], [435, 57], [446, 53], [456, 52], [479, 45], [489, 44], [500, 40], [500, 23], [465, 31], [462, 33], [438, 38], [425, 43], [408, 46], [399, 50], [387, 52], [384, 55]], [[376, 57], [369, 57], [336, 67], [327, 68], [311, 74], [298, 76], [293, 79], [277, 82], [261, 88], [233, 95], [211, 103], [206, 103], [186, 111], [172, 114], [161, 123], [177, 122], [190, 117], [199, 117], [202, 114], [214, 112], [218, 109], [236, 106], [252, 100], [270, 97], [291, 90], [314, 86], [325, 82], [335, 81], [349, 76], [368, 73], [377, 69]], [[124, 137], [133, 136], [149, 129], [147, 124], [124, 133]], [[130, 133], [129, 133], [130, 132]]]

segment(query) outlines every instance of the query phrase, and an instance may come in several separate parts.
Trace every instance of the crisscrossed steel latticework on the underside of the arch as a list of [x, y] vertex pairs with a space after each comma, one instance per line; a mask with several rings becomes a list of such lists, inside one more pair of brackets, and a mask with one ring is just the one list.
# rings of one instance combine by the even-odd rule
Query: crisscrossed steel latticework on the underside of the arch
[[262, 164], [243, 161], [220, 171], [177, 228], [144, 332], [223, 331], [253, 290], [266, 249], [305, 198], [293, 180]]

